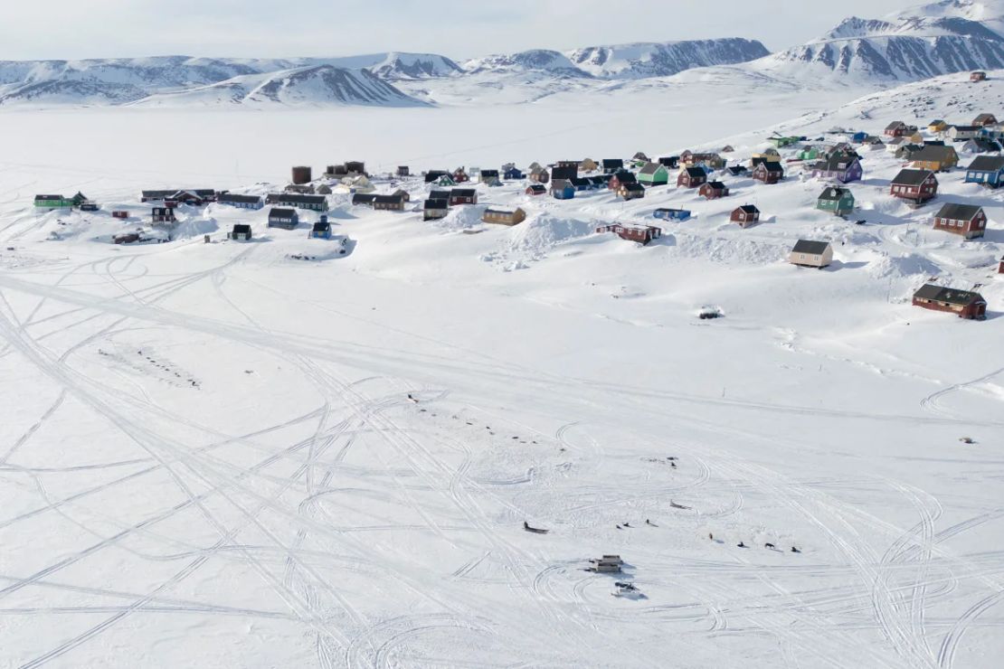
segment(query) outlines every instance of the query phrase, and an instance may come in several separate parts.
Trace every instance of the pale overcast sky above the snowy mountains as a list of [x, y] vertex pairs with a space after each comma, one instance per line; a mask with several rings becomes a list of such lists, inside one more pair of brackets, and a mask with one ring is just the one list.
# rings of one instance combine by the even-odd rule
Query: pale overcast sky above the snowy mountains
[[918, 0], [7, 0], [0, 59], [341, 56], [382, 51], [452, 58], [708, 37], [771, 50], [846, 16], [876, 18]]

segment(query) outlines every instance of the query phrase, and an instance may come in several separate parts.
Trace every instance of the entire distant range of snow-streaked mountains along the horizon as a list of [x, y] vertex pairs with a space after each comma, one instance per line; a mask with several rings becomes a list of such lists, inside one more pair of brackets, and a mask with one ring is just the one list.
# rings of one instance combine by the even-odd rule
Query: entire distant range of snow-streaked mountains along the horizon
[[756, 40], [723, 38], [535, 49], [462, 63], [398, 52], [6, 61], [0, 62], [0, 106], [420, 106], [477, 102], [489, 93], [498, 98], [499, 90], [517, 84], [532, 89], [531, 95], [513, 98], [525, 101], [589, 86], [609, 92], [621, 84], [717, 66], [789, 86], [830, 81], [871, 87], [1004, 68], [1004, 0], [941, 0], [885, 19], [850, 17], [818, 39], [774, 54]]

